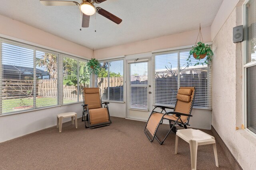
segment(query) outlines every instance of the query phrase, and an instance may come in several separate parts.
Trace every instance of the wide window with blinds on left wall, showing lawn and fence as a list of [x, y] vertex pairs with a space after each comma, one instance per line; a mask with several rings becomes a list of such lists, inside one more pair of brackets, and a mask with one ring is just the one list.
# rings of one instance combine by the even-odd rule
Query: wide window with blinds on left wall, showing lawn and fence
[[0, 114], [78, 102], [89, 86], [85, 60], [4, 38], [0, 65]]

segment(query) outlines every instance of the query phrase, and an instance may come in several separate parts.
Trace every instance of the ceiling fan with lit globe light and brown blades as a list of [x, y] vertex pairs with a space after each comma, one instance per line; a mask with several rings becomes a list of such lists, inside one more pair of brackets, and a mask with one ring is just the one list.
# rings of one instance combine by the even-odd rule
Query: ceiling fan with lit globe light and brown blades
[[100, 4], [106, 0], [80, 0], [81, 3], [75, 1], [62, 1], [62, 0], [40, 0], [40, 2], [45, 6], [79, 6], [83, 13], [82, 27], [89, 27], [90, 16], [97, 12], [98, 14], [108, 18], [114, 23], [121, 23], [122, 20], [117, 16], [111, 14], [110, 12], [100, 8], [95, 7], [94, 4]]

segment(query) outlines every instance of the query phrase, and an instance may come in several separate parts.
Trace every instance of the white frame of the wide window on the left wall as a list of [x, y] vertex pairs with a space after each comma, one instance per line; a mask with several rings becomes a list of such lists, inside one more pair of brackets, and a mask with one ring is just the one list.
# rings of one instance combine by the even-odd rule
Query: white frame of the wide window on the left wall
[[[7, 113], [2, 113], [2, 76], [3, 76], [3, 70], [2, 70], [2, 48], [0, 48], [0, 117], [1, 116], [6, 116], [6, 115], [14, 115], [14, 114], [19, 114], [19, 113], [27, 113], [27, 112], [31, 112], [31, 111], [37, 111], [37, 110], [41, 110], [41, 109], [48, 109], [48, 108], [52, 108], [52, 107], [60, 107], [60, 106], [65, 106], [65, 105], [70, 105], [70, 104], [78, 104], [78, 103], [82, 103], [83, 101], [79, 101], [79, 102], [72, 102], [72, 103], [68, 103], [68, 104], [63, 104], [63, 87], [61, 87], [61, 84], [63, 84], [63, 66], [61, 66], [61, 64], [63, 65], [63, 57], [61, 57], [61, 55], [67, 55], [67, 56], [71, 56], [72, 58], [76, 59], [78, 62], [80, 61], [88, 61], [88, 58], [85, 57], [81, 57], [78, 55], [74, 55], [71, 53], [66, 53], [64, 51], [61, 50], [57, 50], [57, 49], [53, 49], [50, 47], [46, 47], [44, 45], [38, 45], [36, 43], [32, 43], [29, 41], [24, 41], [22, 39], [17, 39], [17, 38], [13, 38], [10, 36], [6, 36], [6, 35], [2, 35], [0, 34], [0, 43], [1, 43], [1, 47], [2, 47], [2, 41], [9, 41], [10, 43], [14, 43], [16, 45], [21, 45], [21, 47], [28, 47], [30, 49], [34, 50], [34, 55], [33, 55], [33, 60], [36, 60], [36, 51], [49, 51], [52, 52], [54, 55], [57, 55], [57, 72], [58, 72], [58, 82], [57, 82], [57, 104], [53, 105], [53, 106], [46, 106], [46, 107], [34, 107], [33, 104], [33, 108], [30, 109], [24, 109], [24, 110], [18, 110], [18, 111], [11, 111], [11, 112], [7, 112]], [[36, 70], [36, 64], [34, 62], [33, 64], [33, 69]], [[62, 68], [62, 69], [61, 69]], [[36, 77], [36, 74], [34, 75], [34, 77]], [[60, 79], [62, 78], [62, 79]], [[35, 87], [34, 87], [35, 88]], [[61, 91], [62, 90], [62, 91]], [[35, 94], [33, 94], [33, 96], [35, 96]], [[34, 100], [34, 99], [33, 99]], [[1, 107], [2, 106], [2, 107]]]

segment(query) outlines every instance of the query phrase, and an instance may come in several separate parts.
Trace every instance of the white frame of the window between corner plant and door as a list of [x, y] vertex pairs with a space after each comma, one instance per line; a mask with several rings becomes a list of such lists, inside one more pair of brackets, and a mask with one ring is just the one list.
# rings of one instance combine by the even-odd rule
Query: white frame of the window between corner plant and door
[[[109, 91], [108, 91], [108, 100], [105, 100], [105, 99], [103, 99], [102, 98], [102, 101], [104, 101], [104, 102], [114, 102], [114, 103], [125, 103], [125, 101], [126, 101], [126, 86], [125, 86], [125, 76], [126, 76], [126, 72], [125, 72], [125, 58], [124, 58], [124, 56], [120, 56], [120, 57], [111, 57], [111, 58], [106, 58], [106, 59], [99, 59], [98, 60], [98, 62], [99, 63], [102, 63], [102, 62], [108, 62], [108, 63], [110, 63], [110, 62], [112, 62], [112, 61], [123, 61], [123, 100], [122, 101], [118, 101], [118, 100], [109, 100]], [[110, 78], [110, 64], [108, 64], [108, 87], [109, 87], [109, 78]], [[95, 75], [94, 76], [94, 78], [95, 78], [95, 84], [94, 84], [94, 87], [98, 87], [98, 76], [97, 75]], [[93, 84], [92, 84], [93, 85]]]

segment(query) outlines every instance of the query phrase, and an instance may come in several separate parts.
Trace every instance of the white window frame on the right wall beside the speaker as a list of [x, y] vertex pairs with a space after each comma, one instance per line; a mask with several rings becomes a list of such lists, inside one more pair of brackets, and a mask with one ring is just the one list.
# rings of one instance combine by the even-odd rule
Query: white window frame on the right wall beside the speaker
[[242, 96], [243, 96], [243, 100], [242, 100], [242, 111], [243, 111], [243, 122], [244, 122], [244, 128], [246, 129], [246, 131], [248, 131], [250, 134], [254, 135], [256, 137], [256, 133], [250, 129], [248, 129], [247, 127], [247, 68], [255, 66], [256, 65], [256, 61], [253, 62], [249, 62], [247, 63], [247, 47], [248, 47], [248, 37], [247, 37], [247, 14], [246, 14], [246, 4], [248, 4], [250, 0], [246, 0], [243, 3], [243, 23], [244, 23], [244, 41], [242, 42], [243, 45], [243, 66], [242, 66], [242, 75], [243, 75], [243, 86], [242, 86]]

